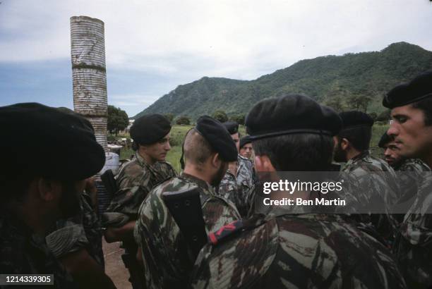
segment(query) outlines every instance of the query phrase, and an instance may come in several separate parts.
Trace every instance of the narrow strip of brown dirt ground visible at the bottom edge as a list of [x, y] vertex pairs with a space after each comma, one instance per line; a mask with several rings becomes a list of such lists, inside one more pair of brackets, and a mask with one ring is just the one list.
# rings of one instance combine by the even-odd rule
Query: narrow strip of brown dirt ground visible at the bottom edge
[[112, 279], [119, 289], [132, 289], [129, 283], [129, 272], [121, 261], [123, 249], [120, 248], [120, 242], [107, 243], [102, 238], [102, 249], [104, 250], [105, 273]]

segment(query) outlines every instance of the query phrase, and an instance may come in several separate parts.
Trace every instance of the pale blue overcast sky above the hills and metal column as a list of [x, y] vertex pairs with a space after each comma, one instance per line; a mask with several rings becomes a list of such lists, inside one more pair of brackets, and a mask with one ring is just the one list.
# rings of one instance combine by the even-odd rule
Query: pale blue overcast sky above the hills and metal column
[[432, 50], [428, 0], [0, 1], [0, 106], [73, 108], [71, 16], [104, 21], [108, 102], [129, 116], [203, 76], [252, 80], [401, 41]]

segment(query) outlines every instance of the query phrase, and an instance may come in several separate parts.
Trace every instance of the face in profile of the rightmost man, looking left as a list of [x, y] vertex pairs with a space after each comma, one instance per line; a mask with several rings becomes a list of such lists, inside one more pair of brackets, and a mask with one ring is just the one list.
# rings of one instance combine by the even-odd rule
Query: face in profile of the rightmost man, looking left
[[421, 157], [432, 147], [432, 126], [424, 124], [424, 113], [411, 104], [392, 109], [388, 135], [395, 137], [400, 156]]

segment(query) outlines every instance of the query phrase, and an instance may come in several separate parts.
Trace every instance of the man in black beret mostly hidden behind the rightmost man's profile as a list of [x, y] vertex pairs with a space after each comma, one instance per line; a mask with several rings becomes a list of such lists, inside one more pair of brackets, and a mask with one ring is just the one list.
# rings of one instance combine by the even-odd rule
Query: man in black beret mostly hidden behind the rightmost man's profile
[[387, 132], [380, 138], [378, 147], [384, 149], [385, 161], [396, 172], [400, 172], [397, 173], [397, 180], [399, 181], [401, 197], [397, 203], [404, 204], [407, 208], [411, 207], [416, 199], [417, 191], [421, 183], [423, 183], [424, 172], [431, 171], [431, 168], [421, 159], [407, 159], [401, 156], [400, 149], [397, 147], [394, 138], [388, 135]]

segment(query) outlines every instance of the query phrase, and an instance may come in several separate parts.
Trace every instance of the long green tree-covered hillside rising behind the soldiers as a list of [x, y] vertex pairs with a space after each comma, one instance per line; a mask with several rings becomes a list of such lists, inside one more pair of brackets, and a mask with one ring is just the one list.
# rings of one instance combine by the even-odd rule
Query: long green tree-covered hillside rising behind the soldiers
[[306, 94], [338, 111], [359, 109], [379, 115], [385, 92], [429, 69], [431, 51], [398, 42], [382, 51], [302, 60], [256, 80], [201, 78], [179, 85], [133, 118], [173, 113], [196, 119], [220, 109], [228, 115], [246, 114], [260, 99], [285, 92]]

